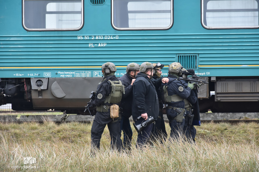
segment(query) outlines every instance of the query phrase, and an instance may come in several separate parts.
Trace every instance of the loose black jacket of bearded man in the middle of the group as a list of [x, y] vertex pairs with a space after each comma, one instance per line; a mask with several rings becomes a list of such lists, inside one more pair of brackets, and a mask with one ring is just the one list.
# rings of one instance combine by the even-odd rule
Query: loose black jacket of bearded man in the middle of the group
[[138, 73], [133, 84], [132, 118], [135, 120], [141, 114], [147, 113], [148, 116], [156, 120], [159, 114], [159, 102], [156, 93], [156, 86], [161, 84], [162, 78], [156, 80], [154, 84], [143, 73]]

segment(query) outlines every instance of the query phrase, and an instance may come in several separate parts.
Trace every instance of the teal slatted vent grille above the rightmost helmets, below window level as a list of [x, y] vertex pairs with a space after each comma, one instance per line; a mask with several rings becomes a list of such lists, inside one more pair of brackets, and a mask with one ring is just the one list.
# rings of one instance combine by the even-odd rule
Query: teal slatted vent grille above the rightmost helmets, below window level
[[197, 68], [198, 54], [176, 54], [176, 57], [185, 69]]

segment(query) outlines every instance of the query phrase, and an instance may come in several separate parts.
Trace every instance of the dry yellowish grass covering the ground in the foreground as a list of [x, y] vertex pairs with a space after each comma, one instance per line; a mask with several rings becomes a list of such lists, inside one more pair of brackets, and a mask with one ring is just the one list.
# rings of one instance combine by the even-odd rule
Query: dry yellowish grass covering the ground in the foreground
[[[168, 133], [169, 125], [166, 124]], [[134, 129], [134, 127], [132, 126]], [[258, 171], [259, 126], [256, 123], [206, 123], [197, 127], [197, 144], [180, 140], [154, 143], [131, 153], [110, 150], [107, 127], [101, 150], [90, 155], [91, 123], [0, 124], [0, 171], [24, 166], [23, 157], [36, 158], [30, 171]], [[3, 169], [9, 166], [9, 169]]]

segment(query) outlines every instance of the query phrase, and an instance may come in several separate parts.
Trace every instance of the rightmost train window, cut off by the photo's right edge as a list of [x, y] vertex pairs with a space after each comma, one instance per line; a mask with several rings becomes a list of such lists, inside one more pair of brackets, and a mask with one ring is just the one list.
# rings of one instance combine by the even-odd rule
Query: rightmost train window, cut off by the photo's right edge
[[202, 25], [207, 29], [259, 28], [259, 0], [202, 0]]

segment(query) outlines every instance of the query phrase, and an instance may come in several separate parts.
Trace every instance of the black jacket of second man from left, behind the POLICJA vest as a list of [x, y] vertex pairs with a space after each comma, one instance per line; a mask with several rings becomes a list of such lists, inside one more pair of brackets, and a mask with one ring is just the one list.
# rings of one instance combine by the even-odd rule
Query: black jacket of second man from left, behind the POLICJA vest
[[120, 107], [122, 108], [121, 115], [130, 118], [132, 115], [132, 90], [133, 86], [131, 85], [133, 77], [129, 74], [124, 74], [119, 77], [119, 80], [123, 83], [125, 87], [125, 95], [121, 99]]

